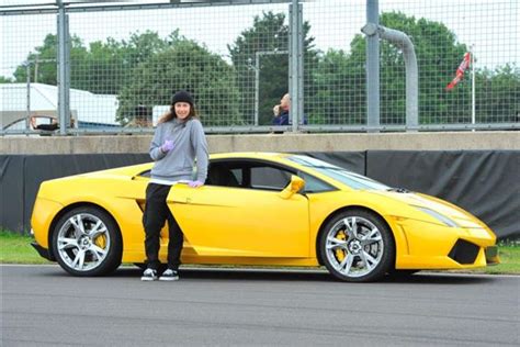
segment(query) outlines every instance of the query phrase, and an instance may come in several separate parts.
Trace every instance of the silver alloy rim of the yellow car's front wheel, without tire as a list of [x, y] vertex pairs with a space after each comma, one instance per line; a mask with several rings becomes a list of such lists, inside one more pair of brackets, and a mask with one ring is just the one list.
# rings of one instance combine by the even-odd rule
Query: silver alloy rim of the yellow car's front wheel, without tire
[[362, 277], [372, 272], [384, 254], [381, 231], [361, 216], [348, 216], [335, 223], [327, 233], [327, 259], [346, 277]]

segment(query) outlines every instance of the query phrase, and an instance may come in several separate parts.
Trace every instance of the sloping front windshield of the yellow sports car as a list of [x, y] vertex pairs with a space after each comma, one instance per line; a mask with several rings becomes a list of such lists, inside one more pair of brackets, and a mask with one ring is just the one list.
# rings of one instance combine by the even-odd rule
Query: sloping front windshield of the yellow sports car
[[314, 170], [326, 175], [343, 184], [349, 186], [352, 189], [363, 190], [363, 189], [371, 189], [371, 190], [389, 190], [388, 186], [385, 186], [381, 182], [377, 182], [373, 179], [364, 177], [359, 174], [354, 174], [347, 169], [340, 168], [339, 166], [310, 158], [307, 156], [289, 156], [289, 160], [297, 163], [299, 165], [306, 166], [308, 168], [313, 168]]

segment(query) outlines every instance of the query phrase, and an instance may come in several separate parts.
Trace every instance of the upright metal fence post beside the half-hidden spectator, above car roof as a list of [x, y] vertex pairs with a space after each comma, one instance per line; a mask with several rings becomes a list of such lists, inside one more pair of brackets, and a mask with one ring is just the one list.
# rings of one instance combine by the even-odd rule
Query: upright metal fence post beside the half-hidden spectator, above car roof
[[292, 131], [298, 131], [299, 119], [303, 117], [303, 13], [298, 0], [293, 0], [289, 9], [289, 94], [291, 96], [290, 116]]

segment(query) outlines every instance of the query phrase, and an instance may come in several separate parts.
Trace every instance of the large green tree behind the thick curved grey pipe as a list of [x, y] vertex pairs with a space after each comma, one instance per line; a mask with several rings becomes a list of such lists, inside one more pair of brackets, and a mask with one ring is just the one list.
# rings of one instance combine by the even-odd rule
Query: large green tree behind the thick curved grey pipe
[[[470, 100], [468, 86], [461, 82], [453, 91], [445, 86], [454, 77], [467, 47], [455, 40], [455, 35], [442, 23], [426, 19], [416, 20], [403, 13], [383, 13], [382, 25], [399, 30], [411, 37], [419, 67], [419, 115], [420, 123], [467, 122]], [[318, 88], [321, 105], [329, 100], [328, 121], [339, 120], [343, 124], [365, 123], [365, 37], [355, 35], [350, 54], [328, 52], [320, 57], [314, 71], [314, 82]], [[334, 58], [334, 59], [332, 59]], [[405, 124], [406, 120], [406, 75], [403, 54], [398, 47], [381, 41], [381, 123]], [[341, 76], [341, 77], [338, 77]], [[335, 79], [338, 79], [335, 81]], [[331, 82], [327, 86], [327, 80]], [[360, 114], [363, 111], [363, 115]], [[319, 110], [310, 110], [319, 114]]]

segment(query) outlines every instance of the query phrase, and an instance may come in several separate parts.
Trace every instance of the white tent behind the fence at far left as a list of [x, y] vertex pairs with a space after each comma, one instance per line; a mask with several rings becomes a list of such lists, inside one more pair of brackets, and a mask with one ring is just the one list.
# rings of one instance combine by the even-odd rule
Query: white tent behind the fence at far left
[[[70, 112], [80, 127], [82, 123], [98, 126], [118, 125], [115, 121], [118, 107], [116, 96], [70, 89], [69, 98]], [[27, 115], [57, 117], [57, 110], [58, 88], [56, 86], [31, 83], [27, 96], [26, 83], [0, 85], [0, 130], [24, 121]]]

